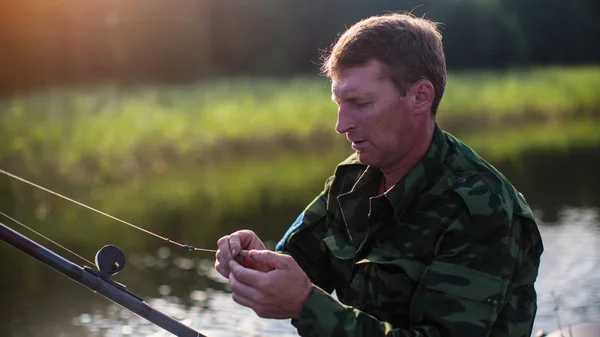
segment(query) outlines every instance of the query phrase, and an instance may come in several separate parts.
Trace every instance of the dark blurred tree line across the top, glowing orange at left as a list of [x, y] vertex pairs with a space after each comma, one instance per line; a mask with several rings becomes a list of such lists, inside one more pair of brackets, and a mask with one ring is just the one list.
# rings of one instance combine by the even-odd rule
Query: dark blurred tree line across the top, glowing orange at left
[[317, 73], [356, 21], [440, 23], [450, 69], [598, 63], [597, 0], [23, 0], [0, 5], [0, 92]]

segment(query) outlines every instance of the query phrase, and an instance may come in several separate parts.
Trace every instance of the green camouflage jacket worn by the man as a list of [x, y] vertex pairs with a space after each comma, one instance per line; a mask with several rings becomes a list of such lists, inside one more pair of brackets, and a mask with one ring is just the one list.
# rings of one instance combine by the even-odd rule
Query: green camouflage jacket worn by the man
[[314, 284], [298, 333], [529, 337], [543, 247], [510, 182], [438, 125], [377, 196], [381, 179], [350, 156], [277, 245]]

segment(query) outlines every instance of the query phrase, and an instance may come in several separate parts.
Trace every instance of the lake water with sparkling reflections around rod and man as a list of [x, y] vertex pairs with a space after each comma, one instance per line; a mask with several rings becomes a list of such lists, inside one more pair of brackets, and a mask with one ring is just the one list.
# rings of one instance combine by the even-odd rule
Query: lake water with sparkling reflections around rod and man
[[[559, 322], [600, 321], [600, 148], [536, 151], [493, 164], [526, 196], [544, 240], [534, 331], [555, 330]], [[259, 211], [230, 214], [212, 222], [206, 217], [206, 221], [193, 225], [189, 217], [175, 216], [166, 206], [148, 205], [148, 211], [168, 219], [152, 230], [172, 238], [193, 235], [197, 246], [213, 247], [220, 235], [243, 227], [252, 228], [272, 244], [320, 186], [309, 184], [306, 188], [298, 192], [297, 199], [286, 199], [277, 207], [267, 203], [258, 207]], [[26, 222], [23, 215], [28, 210], [20, 210], [26, 198], [6, 186], [4, 191], [8, 193], [0, 198], [0, 211], [21, 215], [20, 220]], [[86, 257], [93, 257], [104, 244], [119, 241], [127, 266], [116, 279], [155, 308], [209, 337], [296, 335], [288, 320], [260, 319], [234, 303], [225, 280], [212, 266], [211, 254], [165, 246], [160, 240], [129, 230], [107, 239], [94, 235], [94, 229], [86, 224], [87, 217], [77, 214], [63, 221], [78, 227], [71, 228], [70, 235], [55, 237], [57, 241]], [[10, 221], [0, 221], [80, 262]], [[48, 226], [44, 234], [52, 236], [52, 223]], [[187, 234], [190, 226], [197, 232]], [[79, 239], [82, 236], [86, 237], [85, 244]], [[167, 335], [4, 243], [0, 244], [0, 275], [0, 336]]]

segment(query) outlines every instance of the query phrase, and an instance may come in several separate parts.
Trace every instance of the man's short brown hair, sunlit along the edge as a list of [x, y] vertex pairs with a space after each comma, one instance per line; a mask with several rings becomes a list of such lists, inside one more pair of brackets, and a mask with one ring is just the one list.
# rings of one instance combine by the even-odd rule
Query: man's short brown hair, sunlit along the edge
[[437, 113], [446, 87], [446, 58], [437, 23], [407, 13], [359, 21], [324, 55], [321, 71], [335, 78], [342, 69], [371, 59], [383, 64], [401, 95], [420, 79], [431, 81], [435, 90], [431, 111]]

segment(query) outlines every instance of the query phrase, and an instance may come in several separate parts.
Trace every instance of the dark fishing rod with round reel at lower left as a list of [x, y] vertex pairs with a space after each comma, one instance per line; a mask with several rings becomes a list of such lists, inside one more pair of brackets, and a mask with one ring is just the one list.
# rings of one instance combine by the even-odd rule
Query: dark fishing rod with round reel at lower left
[[154, 309], [141, 297], [111, 279], [125, 267], [125, 254], [114, 245], [106, 245], [96, 253], [96, 267], [81, 267], [46, 247], [0, 223], [0, 240], [34, 257], [93, 292], [121, 305], [136, 315], [179, 337], [206, 337], [183, 323]]

